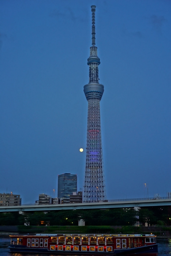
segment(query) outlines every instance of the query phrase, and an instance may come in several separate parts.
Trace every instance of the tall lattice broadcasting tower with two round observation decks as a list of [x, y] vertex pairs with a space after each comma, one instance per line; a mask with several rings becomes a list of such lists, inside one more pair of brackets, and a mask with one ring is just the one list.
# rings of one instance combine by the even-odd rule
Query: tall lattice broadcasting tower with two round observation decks
[[92, 46], [90, 47], [90, 57], [87, 59], [89, 83], [84, 86], [84, 93], [88, 101], [88, 116], [83, 202], [87, 203], [104, 201], [106, 199], [100, 124], [100, 100], [104, 92], [104, 86], [99, 84], [98, 78], [100, 58], [97, 56], [97, 47], [95, 46], [96, 6], [92, 5], [91, 8]]

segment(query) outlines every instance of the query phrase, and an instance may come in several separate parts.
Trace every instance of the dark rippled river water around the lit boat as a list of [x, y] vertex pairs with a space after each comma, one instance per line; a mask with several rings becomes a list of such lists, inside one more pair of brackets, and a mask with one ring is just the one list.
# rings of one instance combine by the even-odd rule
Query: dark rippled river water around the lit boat
[[[158, 251], [159, 256], [171, 256], [171, 239], [169, 238], [158, 238], [159, 243]], [[8, 246], [10, 245], [9, 237], [0, 236], [0, 256], [56, 256], [56, 254], [21, 254], [21, 253], [10, 253]]]

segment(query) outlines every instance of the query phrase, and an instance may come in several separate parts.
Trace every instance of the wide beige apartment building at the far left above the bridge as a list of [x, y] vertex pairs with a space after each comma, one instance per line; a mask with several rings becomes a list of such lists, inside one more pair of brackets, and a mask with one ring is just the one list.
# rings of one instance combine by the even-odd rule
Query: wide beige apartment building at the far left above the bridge
[[0, 193], [0, 206], [19, 206], [21, 205], [20, 195], [14, 195], [12, 192]]

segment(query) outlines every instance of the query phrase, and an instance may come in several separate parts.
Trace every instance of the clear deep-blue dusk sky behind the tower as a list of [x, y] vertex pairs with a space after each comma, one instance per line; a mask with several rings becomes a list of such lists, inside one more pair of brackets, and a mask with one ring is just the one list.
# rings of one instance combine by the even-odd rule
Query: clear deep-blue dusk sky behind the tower
[[91, 5], [107, 198], [171, 192], [171, 1], [0, 0], [0, 193], [22, 204], [83, 186]]

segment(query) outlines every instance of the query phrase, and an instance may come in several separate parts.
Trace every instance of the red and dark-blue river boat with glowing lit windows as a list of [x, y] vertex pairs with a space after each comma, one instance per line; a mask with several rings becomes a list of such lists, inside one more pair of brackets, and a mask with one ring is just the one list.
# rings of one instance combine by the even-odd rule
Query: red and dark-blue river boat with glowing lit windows
[[27, 234], [10, 238], [10, 252], [17, 253], [158, 255], [154, 234]]

